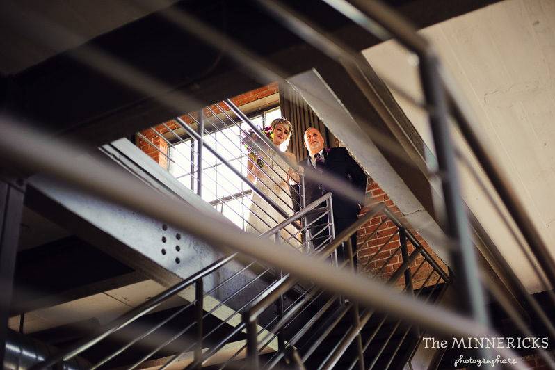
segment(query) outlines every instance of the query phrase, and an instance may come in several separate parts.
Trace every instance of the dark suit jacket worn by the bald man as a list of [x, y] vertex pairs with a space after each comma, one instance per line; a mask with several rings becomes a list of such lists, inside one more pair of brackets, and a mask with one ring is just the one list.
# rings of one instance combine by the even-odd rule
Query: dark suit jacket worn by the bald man
[[[310, 157], [299, 162], [305, 170], [314, 170]], [[328, 152], [324, 150], [324, 169], [320, 181], [313, 181], [305, 177], [306, 204], [313, 202], [332, 189], [326, 188], [326, 179], [335, 177], [351, 184], [357, 191], [360, 191], [360, 203], [364, 200], [366, 191], [367, 176], [358, 166], [358, 163], [348, 154], [344, 147], [332, 147]], [[332, 191], [332, 193], [334, 193]], [[334, 193], [332, 195], [334, 218], [356, 219], [360, 210], [358, 203], [343, 195]]]

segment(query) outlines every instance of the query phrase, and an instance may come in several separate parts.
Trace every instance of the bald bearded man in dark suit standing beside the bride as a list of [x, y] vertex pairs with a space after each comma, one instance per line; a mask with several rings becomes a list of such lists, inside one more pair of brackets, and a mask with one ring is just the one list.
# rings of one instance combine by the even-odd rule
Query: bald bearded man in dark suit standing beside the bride
[[[305, 168], [305, 173], [312, 170], [312, 173], [316, 174], [316, 176], [305, 176], [306, 204], [313, 202], [328, 191], [333, 193], [333, 222], [337, 236], [357, 220], [358, 212], [364, 202], [367, 176], [344, 147], [325, 148], [322, 134], [314, 127], [305, 131], [305, 147], [307, 147], [309, 156], [300, 161], [299, 165]], [[330, 178], [342, 180], [355, 188], [355, 191], [359, 193], [359, 202], [328, 188], [329, 181], [326, 180]], [[351, 236], [351, 242], [354, 252], [357, 246], [356, 232]], [[347, 258], [346, 252], [342, 248], [339, 248], [337, 252], [340, 261]], [[353, 257], [356, 270], [357, 258], [356, 255]]]

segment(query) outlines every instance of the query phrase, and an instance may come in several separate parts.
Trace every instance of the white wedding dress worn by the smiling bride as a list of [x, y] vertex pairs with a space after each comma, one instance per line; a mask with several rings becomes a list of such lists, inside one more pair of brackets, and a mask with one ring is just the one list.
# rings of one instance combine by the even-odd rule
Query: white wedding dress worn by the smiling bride
[[[264, 152], [262, 150], [258, 151], [257, 155], [263, 158], [266, 164], [262, 168], [257, 168], [259, 178], [255, 179], [255, 186], [291, 216], [294, 211], [289, 184], [287, 183], [289, 165], [277, 153], [269, 149]], [[252, 204], [249, 207], [247, 232], [257, 235], [263, 234], [284, 219], [284, 216], [278, 213], [274, 207], [263, 200], [256, 192], [253, 192]], [[291, 247], [298, 248], [300, 246], [298, 229], [293, 225], [288, 225], [285, 230], [281, 230], [280, 243], [288, 243]]]

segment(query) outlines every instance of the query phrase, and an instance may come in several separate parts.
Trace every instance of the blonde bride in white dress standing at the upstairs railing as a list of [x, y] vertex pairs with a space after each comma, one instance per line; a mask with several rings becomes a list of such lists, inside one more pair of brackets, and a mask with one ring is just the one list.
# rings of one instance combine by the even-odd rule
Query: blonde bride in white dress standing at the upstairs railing
[[[269, 148], [262, 144], [259, 146], [264, 149], [259, 147], [253, 148], [252, 152], [255, 153], [255, 157], [263, 161], [257, 160], [257, 163], [254, 163], [255, 161], [248, 161], [247, 178], [262, 193], [286, 211], [288, 215], [292, 215], [294, 211], [289, 182], [298, 182], [299, 177], [293, 168], [276, 153], [279, 150], [291, 162], [296, 163], [295, 154], [285, 152], [291, 139], [291, 122], [285, 118], [275, 119], [271, 123], [271, 129], [273, 132], [271, 140], [275, 147]], [[297, 199], [297, 197], [293, 198]], [[284, 216], [278, 213], [257, 193], [252, 195], [252, 204], [250, 204], [249, 211], [247, 232], [252, 234], [262, 234], [285, 219]], [[298, 230], [293, 225], [287, 226], [285, 230], [281, 231], [281, 243], [289, 239], [287, 243], [291, 246], [300, 246], [300, 234], [297, 232]], [[292, 235], [294, 236], [291, 237]]]

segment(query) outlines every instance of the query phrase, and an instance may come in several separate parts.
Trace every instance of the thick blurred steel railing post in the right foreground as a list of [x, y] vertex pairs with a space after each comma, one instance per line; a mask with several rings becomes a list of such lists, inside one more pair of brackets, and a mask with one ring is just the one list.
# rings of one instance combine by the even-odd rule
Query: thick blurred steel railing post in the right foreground
[[[463, 200], [460, 198], [455, 154], [447, 120], [447, 99], [440, 79], [439, 61], [432, 51], [421, 56], [420, 74], [426, 102], [433, 107], [429, 120], [439, 166], [437, 173], [440, 174], [444, 195], [447, 234], [456, 243], [455, 248], [451, 248], [451, 262], [458, 277], [453, 280], [453, 284], [460, 292], [463, 309], [479, 323], [489, 326], [474, 246], [470, 239]], [[488, 358], [488, 353], [483, 352], [482, 357]]]

